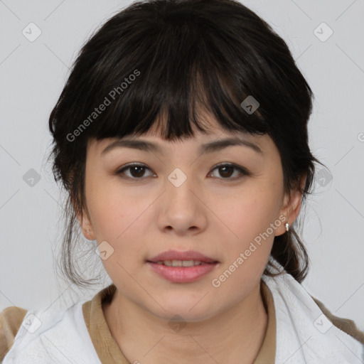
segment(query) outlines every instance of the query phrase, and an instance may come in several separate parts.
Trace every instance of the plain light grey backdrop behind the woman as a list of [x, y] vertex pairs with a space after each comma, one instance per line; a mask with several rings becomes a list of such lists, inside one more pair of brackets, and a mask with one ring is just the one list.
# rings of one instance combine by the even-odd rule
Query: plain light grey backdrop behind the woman
[[[0, 310], [68, 305], [109, 284], [77, 291], [55, 274], [63, 195], [45, 163], [48, 117], [82, 43], [130, 3], [0, 1]], [[316, 97], [310, 145], [328, 170], [305, 209], [303, 286], [364, 330], [364, 1], [242, 3], [287, 41]]]

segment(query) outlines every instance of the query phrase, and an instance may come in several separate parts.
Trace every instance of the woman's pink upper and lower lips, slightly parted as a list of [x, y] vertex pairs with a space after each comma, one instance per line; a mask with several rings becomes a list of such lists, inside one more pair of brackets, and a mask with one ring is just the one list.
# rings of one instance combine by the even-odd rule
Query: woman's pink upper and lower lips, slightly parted
[[[201, 264], [193, 267], [170, 267], [164, 264], [157, 264], [157, 262], [165, 260], [199, 260]], [[168, 250], [148, 259], [146, 263], [149, 264], [156, 274], [170, 282], [188, 283], [194, 282], [211, 272], [219, 262], [193, 250], [188, 250], [187, 252]]]

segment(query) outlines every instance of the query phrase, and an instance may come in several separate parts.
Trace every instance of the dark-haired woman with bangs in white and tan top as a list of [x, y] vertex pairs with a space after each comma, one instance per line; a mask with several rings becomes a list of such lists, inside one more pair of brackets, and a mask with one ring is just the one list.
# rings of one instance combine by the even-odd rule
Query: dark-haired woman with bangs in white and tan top
[[237, 1], [109, 19], [49, 127], [64, 272], [91, 283], [80, 228], [112, 285], [65, 311], [3, 311], [3, 363], [361, 363], [364, 333], [300, 284], [311, 99], [286, 43]]

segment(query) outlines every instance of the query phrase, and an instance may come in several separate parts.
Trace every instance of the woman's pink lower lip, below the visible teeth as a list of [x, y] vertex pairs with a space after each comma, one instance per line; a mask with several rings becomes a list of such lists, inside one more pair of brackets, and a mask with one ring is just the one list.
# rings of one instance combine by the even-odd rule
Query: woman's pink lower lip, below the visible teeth
[[168, 267], [168, 265], [152, 262], [147, 262], [147, 264], [149, 264], [156, 274], [159, 274], [170, 282], [176, 283], [194, 282], [205, 274], [210, 273], [218, 265], [218, 263], [206, 263], [193, 267]]

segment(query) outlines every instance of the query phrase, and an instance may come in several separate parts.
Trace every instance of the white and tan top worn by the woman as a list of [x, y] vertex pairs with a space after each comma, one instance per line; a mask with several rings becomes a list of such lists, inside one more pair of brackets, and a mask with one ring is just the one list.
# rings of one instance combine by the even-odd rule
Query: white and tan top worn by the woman
[[[130, 364], [102, 313], [102, 301], [111, 299], [114, 291], [112, 284], [91, 301], [61, 311], [31, 310], [24, 314], [23, 309], [10, 308], [25, 316], [22, 321], [17, 319], [21, 325], [2, 363]], [[254, 364], [363, 364], [364, 333], [356, 327], [351, 333], [348, 328], [355, 326], [353, 321], [333, 316], [290, 274], [263, 276], [261, 292], [268, 326]], [[9, 314], [9, 308], [6, 310]], [[14, 331], [13, 326], [7, 335]]]

